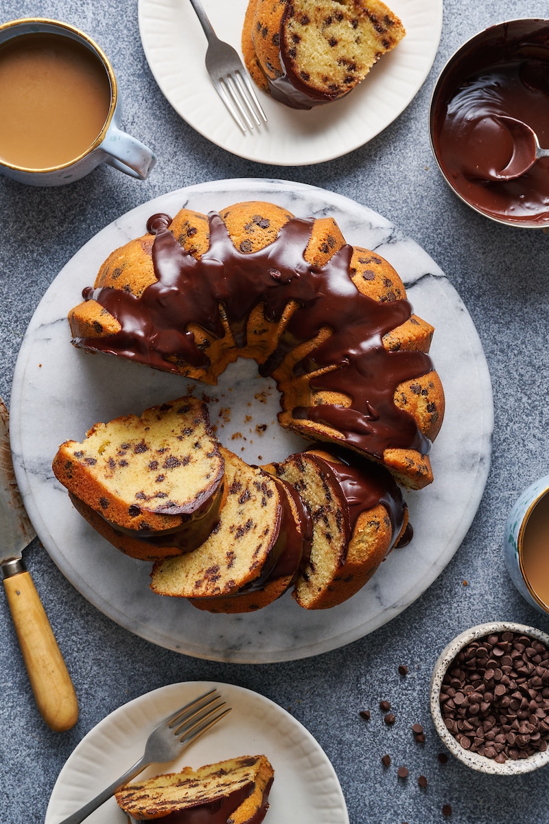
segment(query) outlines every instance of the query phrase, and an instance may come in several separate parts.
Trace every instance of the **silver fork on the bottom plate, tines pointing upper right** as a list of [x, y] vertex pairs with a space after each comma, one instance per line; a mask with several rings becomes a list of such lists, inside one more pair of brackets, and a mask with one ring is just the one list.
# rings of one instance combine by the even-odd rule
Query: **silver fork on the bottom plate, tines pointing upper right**
[[221, 695], [216, 690], [210, 690], [205, 695], [184, 705], [181, 709], [171, 713], [161, 723], [155, 727], [151, 735], [147, 738], [145, 752], [139, 761], [130, 767], [120, 778], [110, 784], [102, 793], [96, 795], [87, 804], [71, 816], [65, 818], [59, 824], [80, 824], [85, 818], [91, 815], [94, 810], [104, 804], [114, 793], [122, 789], [124, 784], [128, 784], [150, 764], [166, 764], [174, 761], [188, 744], [196, 741], [202, 733], [212, 727], [227, 714], [230, 707], [217, 713], [218, 709], [224, 707], [225, 701], [221, 701]]

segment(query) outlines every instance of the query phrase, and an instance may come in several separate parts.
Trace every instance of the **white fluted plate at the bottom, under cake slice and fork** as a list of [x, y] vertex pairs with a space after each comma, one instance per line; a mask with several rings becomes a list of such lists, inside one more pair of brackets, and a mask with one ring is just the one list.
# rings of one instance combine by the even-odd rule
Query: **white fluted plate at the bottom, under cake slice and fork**
[[[114, 710], [84, 737], [61, 770], [44, 824], [58, 824], [112, 784], [141, 756], [151, 730], [179, 707], [216, 686], [232, 711], [168, 765], [152, 765], [138, 780], [194, 769], [235, 756], [265, 755], [275, 770], [265, 824], [348, 824], [337, 775], [322, 747], [285, 709], [231, 684], [187, 681], [147, 692]], [[136, 779], [137, 780], [137, 779]], [[114, 798], [86, 819], [126, 824]]]

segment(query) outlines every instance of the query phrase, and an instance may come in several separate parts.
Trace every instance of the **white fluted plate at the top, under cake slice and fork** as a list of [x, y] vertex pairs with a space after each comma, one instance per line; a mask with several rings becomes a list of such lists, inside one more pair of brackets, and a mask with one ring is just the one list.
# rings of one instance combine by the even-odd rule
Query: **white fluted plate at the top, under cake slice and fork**
[[[237, 49], [247, 0], [202, 0], [216, 33]], [[174, 110], [205, 138], [240, 157], [307, 166], [341, 157], [383, 131], [412, 101], [435, 60], [442, 0], [391, 0], [407, 31], [350, 95], [297, 111], [258, 97], [268, 124], [243, 134], [217, 95], [204, 64], [207, 41], [188, 0], [139, 0], [139, 30], [151, 72]]]

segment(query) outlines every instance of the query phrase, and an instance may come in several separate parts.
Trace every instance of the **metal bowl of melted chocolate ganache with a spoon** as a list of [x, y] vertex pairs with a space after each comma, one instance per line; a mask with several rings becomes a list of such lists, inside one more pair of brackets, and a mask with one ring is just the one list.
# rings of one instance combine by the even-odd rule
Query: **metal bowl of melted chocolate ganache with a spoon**
[[503, 179], [512, 159], [535, 151], [514, 121], [549, 148], [549, 20], [506, 21], [468, 40], [440, 73], [429, 112], [435, 160], [458, 198], [507, 226], [549, 227], [549, 157]]

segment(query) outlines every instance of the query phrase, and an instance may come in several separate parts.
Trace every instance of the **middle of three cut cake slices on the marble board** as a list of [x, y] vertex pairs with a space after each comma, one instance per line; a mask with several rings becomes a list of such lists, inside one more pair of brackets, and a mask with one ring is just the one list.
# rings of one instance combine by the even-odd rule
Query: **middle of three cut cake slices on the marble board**
[[[296, 513], [267, 473], [224, 447], [221, 453], [227, 497], [217, 526], [193, 552], [156, 561], [151, 589], [159, 595], [215, 600], [216, 606], [219, 597], [254, 592], [258, 607], [266, 606], [286, 592], [303, 563]], [[230, 611], [249, 609], [235, 602]]]

